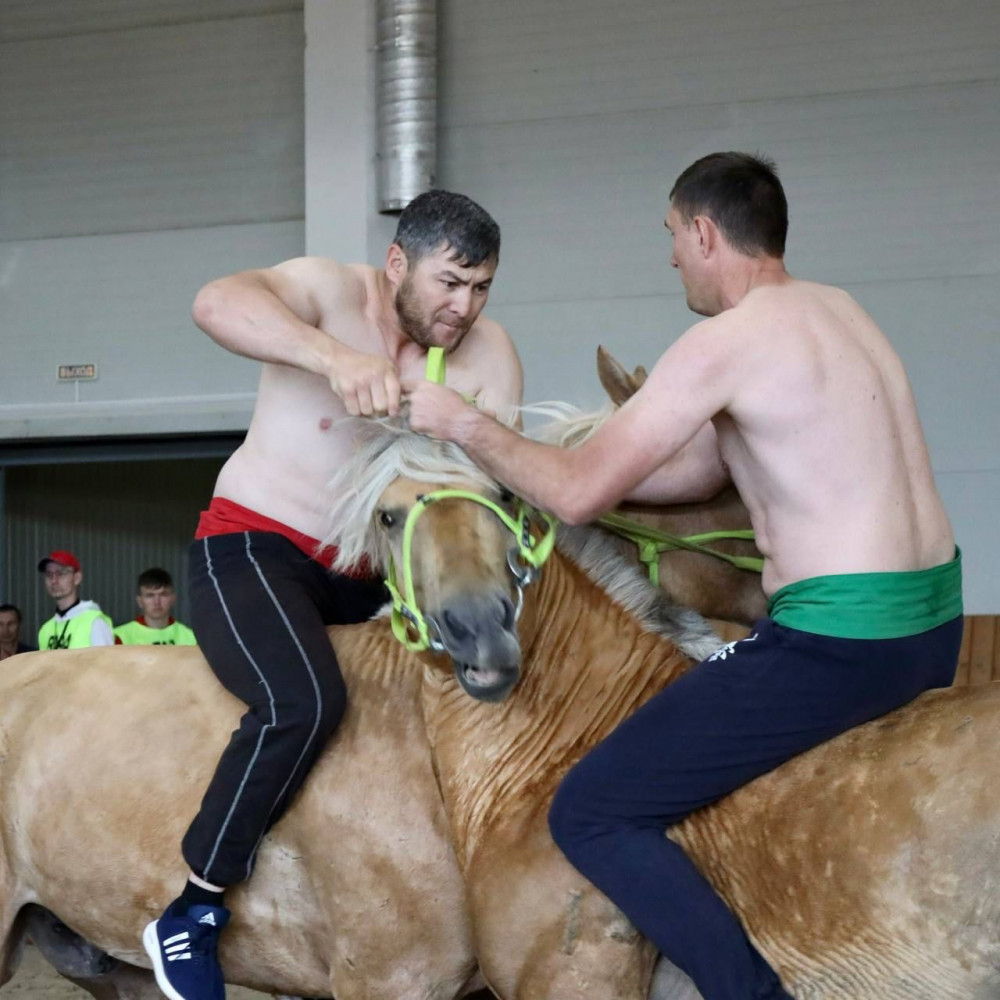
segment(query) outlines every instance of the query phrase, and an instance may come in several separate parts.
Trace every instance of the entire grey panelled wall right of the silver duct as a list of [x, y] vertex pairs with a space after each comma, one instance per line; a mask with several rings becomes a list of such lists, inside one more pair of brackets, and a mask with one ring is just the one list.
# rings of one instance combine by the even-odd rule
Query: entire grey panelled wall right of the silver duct
[[694, 317], [668, 193], [720, 149], [774, 156], [788, 264], [842, 285], [906, 362], [966, 554], [1000, 610], [1000, 5], [450, 0], [440, 178], [493, 212], [489, 314], [529, 399], [601, 398], [594, 348], [651, 365]]

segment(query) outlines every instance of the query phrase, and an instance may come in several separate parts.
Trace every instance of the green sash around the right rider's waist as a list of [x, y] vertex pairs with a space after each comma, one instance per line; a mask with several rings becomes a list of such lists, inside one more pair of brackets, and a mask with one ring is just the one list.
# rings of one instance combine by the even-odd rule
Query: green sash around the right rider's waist
[[840, 573], [782, 587], [767, 613], [779, 625], [841, 639], [899, 639], [962, 613], [962, 552], [931, 569]]

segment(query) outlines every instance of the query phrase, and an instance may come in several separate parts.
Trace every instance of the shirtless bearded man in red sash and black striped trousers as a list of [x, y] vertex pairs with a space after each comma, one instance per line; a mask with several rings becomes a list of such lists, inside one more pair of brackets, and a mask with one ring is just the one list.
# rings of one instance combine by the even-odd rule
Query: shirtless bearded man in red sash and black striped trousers
[[195, 322], [264, 362], [246, 440], [226, 462], [191, 548], [192, 625], [209, 665], [248, 706], [182, 845], [191, 874], [143, 943], [171, 1000], [221, 1000], [226, 887], [248, 878], [346, 707], [326, 626], [386, 601], [363, 570], [333, 574], [326, 484], [350, 452], [347, 415], [396, 414], [400, 379], [448, 354], [447, 382], [502, 417], [523, 376], [506, 331], [481, 315], [500, 230], [447, 191], [414, 199], [385, 267], [305, 257], [213, 281]]

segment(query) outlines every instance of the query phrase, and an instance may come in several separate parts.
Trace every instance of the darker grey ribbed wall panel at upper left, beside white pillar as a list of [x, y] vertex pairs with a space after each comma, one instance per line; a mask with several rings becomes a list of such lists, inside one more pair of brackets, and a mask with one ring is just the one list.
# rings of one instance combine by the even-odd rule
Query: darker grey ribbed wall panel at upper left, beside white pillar
[[0, 239], [302, 218], [303, 49], [301, 13], [5, 44]]

